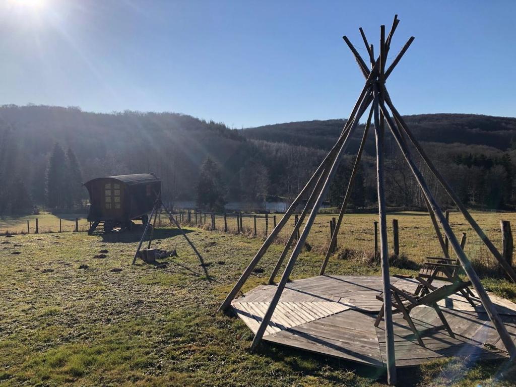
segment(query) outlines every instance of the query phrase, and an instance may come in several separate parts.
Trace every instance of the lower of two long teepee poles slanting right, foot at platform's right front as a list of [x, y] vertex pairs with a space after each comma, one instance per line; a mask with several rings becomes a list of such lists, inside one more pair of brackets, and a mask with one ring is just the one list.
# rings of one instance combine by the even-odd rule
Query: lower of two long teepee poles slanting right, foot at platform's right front
[[[509, 352], [509, 356], [511, 358], [516, 357], [516, 346], [512, 342], [512, 339], [511, 339], [509, 333], [507, 332], [507, 329], [505, 328], [505, 325], [503, 324], [502, 320], [499, 318], [498, 313], [497, 313], [493, 303], [491, 302], [491, 299], [489, 298], [489, 295], [487, 294], [486, 289], [483, 288], [483, 286], [480, 282], [480, 279], [477, 276], [477, 273], [475, 272], [475, 270], [473, 269], [473, 267], [471, 265], [470, 260], [467, 258], [466, 254], [461, 249], [459, 241], [457, 240], [457, 237], [455, 236], [453, 230], [451, 230], [449, 223], [446, 221], [446, 218], [444, 217], [444, 214], [442, 213], [441, 208], [439, 208], [435, 199], [433, 198], [432, 193], [423, 178], [423, 175], [421, 174], [420, 170], [416, 167], [416, 165], [412, 161], [410, 151], [409, 151], [408, 147], [406, 146], [404, 139], [401, 137], [401, 134], [398, 131], [398, 128], [395, 126], [394, 122], [392, 121], [391, 117], [389, 116], [388, 111], [386, 110], [385, 106], [380, 104], [380, 109], [382, 109], [383, 114], [384, 114], [385, 118], [387, 119], [387, 122], [391, 129], [391, 132], [394, 135], [396, 142], [398, 143], [401, 153], [403, 154], [410, 169], [412, 170], [412, 173], [414, 174], [417, 183], [423, 189], [424, 194], [433, 209], [433, 212], [436, 214], [439, 222], [441, 223], [441, 227], [444, 230], [444, 233], [448, 237], [451, 247], [457, 254], [457, 257], [462, 265], [462, 268], [464, 269], [467, 277], [470, 279], [473, 287], [477, 291], [477, 294], [478, 294], [480, 300], [482, 301], [483, 307], [486, 309], [489, 319], [493, 323], [502, 342], [504, 343], [505, 348]], [[504, 261], [504, 263], [506, 266], [508, 266], [507, 262]], [[505, 266], [504, 266], [504, 268], [505, 268]]]

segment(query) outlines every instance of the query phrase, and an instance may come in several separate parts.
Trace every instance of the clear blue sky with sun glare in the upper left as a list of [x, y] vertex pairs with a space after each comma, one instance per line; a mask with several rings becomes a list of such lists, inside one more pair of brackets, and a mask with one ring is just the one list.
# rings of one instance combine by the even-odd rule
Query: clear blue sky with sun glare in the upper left
[[[402, 114], [516, 116], [514, 1], [2, 0], [0, 104], [174, 111], [240, 128], [345, 118], [365, 54], [401, 20]], [[364, 55], [365, 56], [365, 55]]]

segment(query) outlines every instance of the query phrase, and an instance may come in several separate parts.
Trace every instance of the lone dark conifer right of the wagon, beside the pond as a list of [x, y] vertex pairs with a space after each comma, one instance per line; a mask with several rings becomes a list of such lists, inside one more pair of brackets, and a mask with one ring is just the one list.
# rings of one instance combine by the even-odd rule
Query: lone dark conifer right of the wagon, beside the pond
[[207, 209], [222, 209], [224, 207], [224, 185], [217, 164], [206, 158], [201, 166], [199, 181], [196, 187], [197, 205]]

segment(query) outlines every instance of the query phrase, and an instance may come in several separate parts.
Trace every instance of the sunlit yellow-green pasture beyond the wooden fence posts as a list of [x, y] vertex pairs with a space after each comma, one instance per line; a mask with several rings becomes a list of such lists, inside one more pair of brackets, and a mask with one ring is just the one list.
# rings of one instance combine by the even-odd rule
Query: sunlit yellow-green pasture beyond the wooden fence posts
[[[502, 234], [499, 222], [501, 219], [509, 220], [516, 227], [516, 213], [496, 213], [496, 212], [472, 212], [473, 217], [477, 220], [495, 246], [502, 248]], [[206, 223], [211, 225], [211, 214], [206, 215]], [[273, 229], [273, 216], [269, 215], [268, 232]], [[329, 221], [337, 214], [319, 214], [317, 215], [312, 231], [308, 238], [308, 243], [317, 252], [323, 252], [330, 240]], [[87, 231], [89, 222], [85, 219], [85, 215], [67, 214], [61, 215], [62, 231], [70, 232], [75, 229], [75, 217], [79, 219], [79, 231]], [[276, 214], [279, 222], [282, 214]], [[25, 233], [27, 232], [27, 220], [29, 221], [30, 233], [35, 232], [36, 221], [38, 218], [39, 232], [58, 232], [59, 217], [52, 214], [45, 215], [29, 215], [24, 217], [4, 217], [0, 218], [0, 234], [6, 232]], [[427, 256], [439, 256], [442, 254], [439, 242], [436, 238], [432, 227], [430, 217], [425, 212], [396, 212], [389, 213], [388, 221], [388, 242], [392, 251], [392, 219], [398, 219], [399, 224], [399, 244], [400, 254], [404, 254], [415, 262], [422, 262]], [[187, 218], [185, 216], [185, 222]], [[374, 251], [374, 221], [378, 220], [377, 214], [346, 214], [343, 224], [338, 235], [338, 247], [346, 248], [353, 251], [365, 252], [372, 254]], [[236, 217], [228, 213], [227, 224], [229, 232], [236, 232]], [[191, 222], [195, 223], [195, 217], [191, 216]], [[204, 223], [204, 216], [198, 216], [198, 223]], [[466, 233], [466, 253], [470, 259], [482, 266], [493, 266], [495, 260], [483, 245], [480, 238], [474, 233], [470, 225], [462, 217], [460, 213], [450, 213], [450, 223], [459, 240], [463, 232]], [[168, 224], [166, 215], [160, 215], [158, 225]], [[294, 217], [288, 221], [285, 229], [280, 233], [280, 241], [286, 240], [293, 229]], [[222, 214], [217, 214], [215, 218], [215, 227], [217, 230], [224, 230], [224, 218]], [[253, 215], [243, 218], [244, 232], [248, 235], [254, 233]], [[256, 215], [256, 233], [258, 236], [265, 236], [265, 217], [263, 214]], [[452, 252], [453, 254], [453, 252]]]

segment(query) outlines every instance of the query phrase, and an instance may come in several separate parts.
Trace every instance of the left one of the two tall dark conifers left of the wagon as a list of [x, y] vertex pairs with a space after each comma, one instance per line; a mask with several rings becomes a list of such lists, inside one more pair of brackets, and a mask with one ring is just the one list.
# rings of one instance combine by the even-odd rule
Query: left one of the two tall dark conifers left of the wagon
[[46, 170], [46, 204], [49, 208], [64, 208], [67, 204], [67, 169], [65, 152], [56, 142]]

